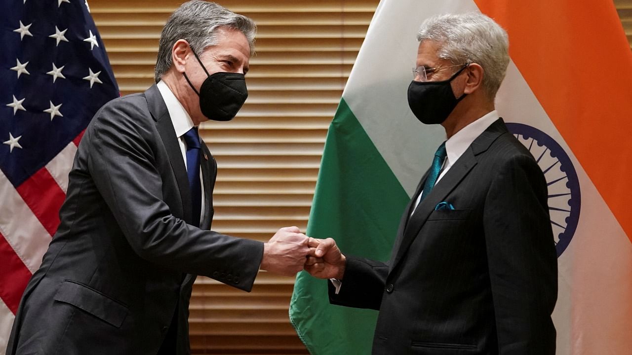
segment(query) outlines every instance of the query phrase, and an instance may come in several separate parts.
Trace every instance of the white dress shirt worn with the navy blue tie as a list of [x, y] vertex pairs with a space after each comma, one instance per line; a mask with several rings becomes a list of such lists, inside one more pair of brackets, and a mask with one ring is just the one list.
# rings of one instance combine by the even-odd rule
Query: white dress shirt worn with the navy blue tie
[[[162, 100], [167, 105], [167, 111], [169, 111], [169, 116], [171, 116], [171, 123], [173, 123], [173, 128], [176, 131], [176, 136], [178, 137], [178, 143], [180, 145], [180, 152], [182, 153], [182, 159], [185, 162], [186, 166], [186, 143], [184, 135], [189, 129], [195, 126], [193, 121], [191, 120], [191, 116], [189, 116], [188, 112], [186, 112], [185, 108], [182, 107], [182, 104], [176, 98], [176, 95], [171, 92], [171, 89], [167, 87], [167, 84], [164, 81], [158, 81], [157, 85], [158, 90], [162, 95]], [[200, 225], [202, 224], [202, 219], [204, 219], [204, 179], [202, 177], [202, 169], [200, 167], [200, 183], [202, 187], [202, 207], [200, 208]]]

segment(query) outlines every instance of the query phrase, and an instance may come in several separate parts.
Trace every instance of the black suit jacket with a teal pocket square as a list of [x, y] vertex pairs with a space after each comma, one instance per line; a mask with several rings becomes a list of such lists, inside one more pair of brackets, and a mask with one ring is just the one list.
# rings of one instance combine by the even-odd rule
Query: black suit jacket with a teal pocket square
[[349, 256], [331, 303], [379, 310], [374, 354], [554, 354], [557, 256], [532, 155], [499, 119], [409, 218], [423, 181], [390, 262]]

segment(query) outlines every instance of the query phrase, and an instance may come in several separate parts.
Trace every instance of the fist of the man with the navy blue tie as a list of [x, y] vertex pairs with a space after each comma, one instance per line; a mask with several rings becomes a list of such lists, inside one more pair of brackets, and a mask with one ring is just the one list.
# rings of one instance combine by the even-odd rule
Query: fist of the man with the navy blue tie
[[262, 270], [274, 274], [293, 276], [303, 270], [305, 258], [310, 252], [308, 238], [298, 227], [279, 229], [267, 243], [264, 243]]

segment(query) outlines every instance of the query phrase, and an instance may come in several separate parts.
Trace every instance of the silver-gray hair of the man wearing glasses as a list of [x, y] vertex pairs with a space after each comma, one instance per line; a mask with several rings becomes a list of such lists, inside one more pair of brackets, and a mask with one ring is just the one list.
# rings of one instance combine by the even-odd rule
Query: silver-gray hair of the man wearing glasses
[[417, 40], [439, 43], [437, 56], [452, 64], [477, 63], [483, 67], [483, 90], [494, 99], [509, 65], [507, 32], [478, 12], [436, 15], [423, 21]]

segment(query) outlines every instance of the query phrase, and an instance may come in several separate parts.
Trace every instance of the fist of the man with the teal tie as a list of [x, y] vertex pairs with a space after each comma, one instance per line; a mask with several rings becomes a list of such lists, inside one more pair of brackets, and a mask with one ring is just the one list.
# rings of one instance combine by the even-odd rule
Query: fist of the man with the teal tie
[[319, 279], [342, 280], [346, 258], [332, 238], [309, 239], [310, 256], [305, 263], [305, 271]]

